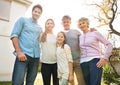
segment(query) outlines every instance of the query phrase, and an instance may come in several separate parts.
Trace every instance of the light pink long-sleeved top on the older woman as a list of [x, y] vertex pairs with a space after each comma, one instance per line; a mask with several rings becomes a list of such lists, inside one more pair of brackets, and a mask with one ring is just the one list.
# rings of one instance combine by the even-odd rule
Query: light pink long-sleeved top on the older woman
[[111, 55], [112, 44], [105, 39], [98, 31], [88, 32], [79, 37], [79, 46], [81, 49], [81, 59], [88, 57], [101, 56], [100, 42], [104, 44], [106, 50], [103, 58], [108, 59]]

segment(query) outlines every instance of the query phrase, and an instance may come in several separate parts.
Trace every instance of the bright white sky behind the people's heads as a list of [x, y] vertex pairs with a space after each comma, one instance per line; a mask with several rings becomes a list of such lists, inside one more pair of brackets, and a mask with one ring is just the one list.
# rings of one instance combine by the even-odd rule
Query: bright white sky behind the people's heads
[[[93, 16], [97, 16], [99, 10], [96, 7], [89, 5], [93, 3], [100, 3], [102, 0], [31, 0], [33, 3], [28, 8], [26, 16], [31, 16], [31, 9], [35, 4], [40, 4], [43, 8], [43, 13], [38, 21], [38, 24], [44, 30], [45, 21], [48, 18], [52, 18], [55, 21], [54, 33], [57, 34], [59, 31], [63, 30], [61, 19], [64, 15], [69, 15], [72, 18], [71, 29], [77, 29], [77, 21], [81, 17], [87, 17], [90, 21], [90, 28], [97, 29], [105, 37], [108, 33], [108, 27], [103, 26], [98, 28], [98, 22]], [[118, 21], [115, 21], [115, 28], [118, 28]], [[120, 29], [117, 29], [120, 31]], [[80, 31], [80, 30], [79, 30]], [[82, 32], [81, 32], [82, 33]], [[117, 38], [117, 42], [120, 41], [120, 37]], [[117, 46], [120, 44], [116, 42]]]

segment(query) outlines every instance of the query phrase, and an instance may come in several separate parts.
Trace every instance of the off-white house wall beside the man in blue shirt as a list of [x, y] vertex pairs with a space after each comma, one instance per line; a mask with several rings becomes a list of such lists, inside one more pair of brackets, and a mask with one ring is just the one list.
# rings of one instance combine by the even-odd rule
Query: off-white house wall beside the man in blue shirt
[[30, 4], [31, 2], [27, 0], [11, 0], [9, 21], [0, 20], [0, 81], [11, 81], [12, 79], [15, 56], [12, 54], [14, 48], [10, 34], [15, 21], [25, 15]]

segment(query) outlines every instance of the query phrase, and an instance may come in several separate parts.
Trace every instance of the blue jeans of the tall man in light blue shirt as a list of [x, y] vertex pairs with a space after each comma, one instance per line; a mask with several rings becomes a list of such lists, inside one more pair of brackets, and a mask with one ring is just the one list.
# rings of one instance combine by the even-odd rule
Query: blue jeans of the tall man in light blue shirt
[[12, 85], [23, 85], [26, 77], [26, 85], [34, 85], [34, 81], [38, 72], [39, 58], [32, 58], [26, 55], [27, 60], [21, 62], [16, 57]]

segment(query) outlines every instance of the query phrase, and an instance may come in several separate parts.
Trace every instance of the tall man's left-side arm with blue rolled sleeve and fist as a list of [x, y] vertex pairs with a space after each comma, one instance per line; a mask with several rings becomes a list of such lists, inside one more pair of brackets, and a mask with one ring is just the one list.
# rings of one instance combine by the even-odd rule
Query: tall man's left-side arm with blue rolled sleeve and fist
[[23, 25], [24, 25], [24, 18], [21, 17], [16, 21], [13, 31], [11, 33], [11, 38], [10, 38], [12, 40], [13, 46], [16, 51], [16, 56], [18, 57], [19, 61], [26, 60], [26, 56], [22, 52], [20, 45], [19, 45], [19, 40], [18, 40], [18, 37], [19, 37], [20, 33], [22, 32]]

